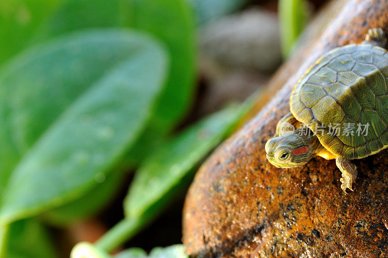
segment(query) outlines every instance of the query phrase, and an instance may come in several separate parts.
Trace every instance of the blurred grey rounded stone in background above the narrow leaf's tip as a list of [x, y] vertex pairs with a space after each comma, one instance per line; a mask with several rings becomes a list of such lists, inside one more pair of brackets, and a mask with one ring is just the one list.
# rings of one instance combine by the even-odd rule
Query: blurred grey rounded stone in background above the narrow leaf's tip
[[202, 58], [233, 67], [273, 71], [281, 62], [277, 17], [261, 9], [227, 16], [202, 28]]

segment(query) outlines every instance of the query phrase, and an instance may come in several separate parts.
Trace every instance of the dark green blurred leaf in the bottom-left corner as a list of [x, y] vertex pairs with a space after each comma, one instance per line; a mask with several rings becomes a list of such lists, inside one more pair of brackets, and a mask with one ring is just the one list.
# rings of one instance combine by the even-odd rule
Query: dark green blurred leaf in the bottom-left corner
[[9, 225], [4, 258], [56, 258], [51, 236], [36, 220], [21, 220]]

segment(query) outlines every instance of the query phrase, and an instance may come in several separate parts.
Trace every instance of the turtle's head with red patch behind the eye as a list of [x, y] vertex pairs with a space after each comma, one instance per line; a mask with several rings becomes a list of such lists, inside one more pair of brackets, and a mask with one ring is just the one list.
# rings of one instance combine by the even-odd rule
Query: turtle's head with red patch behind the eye
[[[316, 136], [309, 136], [307, 140]], [[313, 140], [313, 139], [312, 139]], [[315, 155], [315, 150], [297, 133], [269, 139], [265, 145], [267, 160], [275, 167], [298, 167], [306, 164]]]

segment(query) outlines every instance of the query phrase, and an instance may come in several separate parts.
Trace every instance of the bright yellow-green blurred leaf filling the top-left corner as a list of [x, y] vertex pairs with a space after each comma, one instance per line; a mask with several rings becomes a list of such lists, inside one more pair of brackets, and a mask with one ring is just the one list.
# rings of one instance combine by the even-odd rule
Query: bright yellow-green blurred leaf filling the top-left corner
[[28, 45], [35, 30], [61, 1], [0, 1], [0, 63]]

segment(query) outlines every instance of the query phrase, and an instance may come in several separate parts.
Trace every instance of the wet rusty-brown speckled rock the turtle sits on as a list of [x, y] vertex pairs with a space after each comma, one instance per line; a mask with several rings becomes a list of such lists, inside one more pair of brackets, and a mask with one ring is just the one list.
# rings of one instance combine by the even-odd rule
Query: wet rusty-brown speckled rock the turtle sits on
[[301, 168], [278, 169], [264, 150], [309, 65], [332, 48], [360, 43], [372, 27], [388, 32], [387, 0], [335, 0], [307, 29], [304, 45], [258, 100], [261, 111], [196, 174], [183, 210], [190, 255], [388, 257], [387, 150], [355, 161], [359, 175], [347, 195], [335, 161], [317, 157]]

